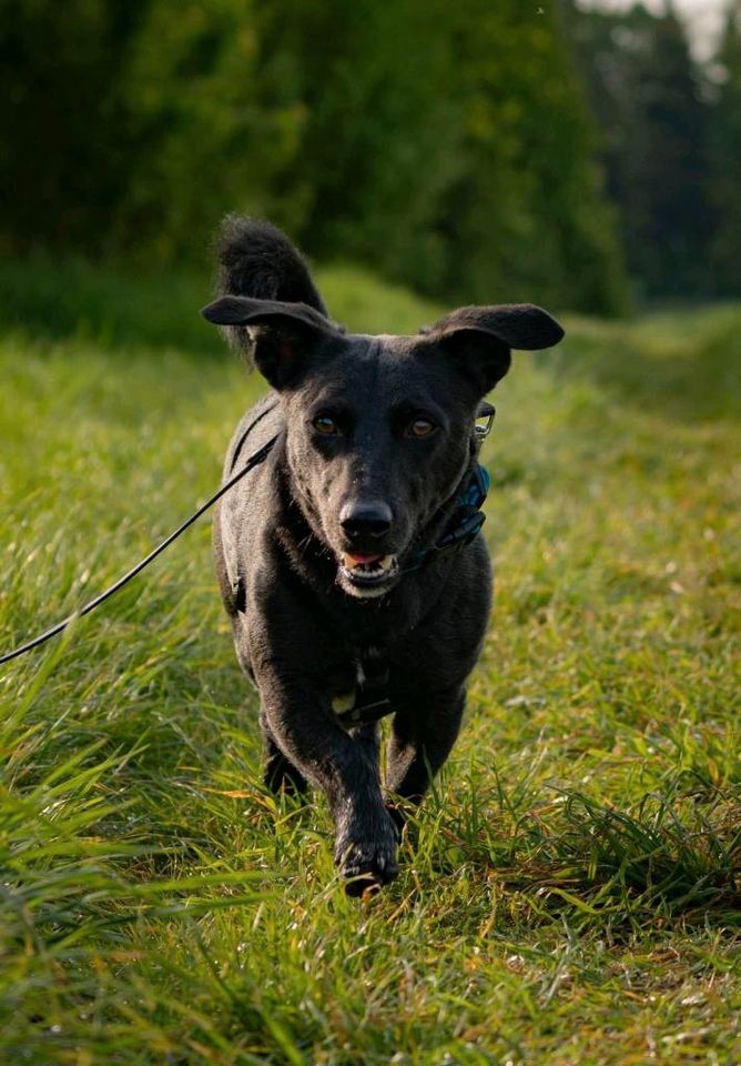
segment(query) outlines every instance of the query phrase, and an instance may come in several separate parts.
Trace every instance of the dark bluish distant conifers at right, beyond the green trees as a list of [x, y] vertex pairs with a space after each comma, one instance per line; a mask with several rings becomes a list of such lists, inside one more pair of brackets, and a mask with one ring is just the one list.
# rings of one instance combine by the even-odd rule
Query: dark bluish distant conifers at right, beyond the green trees
[[671, 2], [622, 14], [564, 4], [565, 29], [600, 130], [606, 191], [639, 292], [741, 292], [741, 3], [714, 61], [693, 63]]

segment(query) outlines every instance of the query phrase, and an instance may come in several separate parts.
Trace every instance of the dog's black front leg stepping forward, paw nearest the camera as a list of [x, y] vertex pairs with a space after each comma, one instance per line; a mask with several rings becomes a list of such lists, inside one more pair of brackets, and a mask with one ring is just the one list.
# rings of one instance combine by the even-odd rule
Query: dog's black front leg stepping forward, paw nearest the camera
[[380, 792], [378, 762], [368, 738], [337, 723], [329, 702], [311, 685], [260, 672], [262, 713], [290, 763], [327, 797], [336, 827], [335, 863], [349, 895], [397, 874], [398, 833]]

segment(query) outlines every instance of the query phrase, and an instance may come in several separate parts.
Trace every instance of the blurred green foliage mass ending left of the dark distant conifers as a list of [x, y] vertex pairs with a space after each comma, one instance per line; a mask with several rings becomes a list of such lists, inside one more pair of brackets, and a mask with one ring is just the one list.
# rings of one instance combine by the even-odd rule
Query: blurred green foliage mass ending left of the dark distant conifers
[[552, 0], [10, 0], [0, 56], [9, 249], [201, 262], [243, 210], [428, 295], [625, 302]]

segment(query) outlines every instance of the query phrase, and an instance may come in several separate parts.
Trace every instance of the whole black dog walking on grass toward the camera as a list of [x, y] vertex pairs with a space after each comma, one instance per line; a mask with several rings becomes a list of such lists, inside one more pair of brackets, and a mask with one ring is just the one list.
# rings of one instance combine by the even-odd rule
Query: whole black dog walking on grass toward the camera
[[484, 638], [479, 404], [510, 349], [564, 331], [519, 304], [461, 308], [417, 336], [347, 334], [284, 234], [247, 219], [226, 220], [220, 269], [203, 314], [274, 389], [240, 423], [225, 476], [276, 436], [216, 514], [222, 595], [260, 691], [266, 782], [324, 791], [359, 893], [397, 872], [376, 718], [394, 712], [386, 788], [416, 803], [456, 740]]

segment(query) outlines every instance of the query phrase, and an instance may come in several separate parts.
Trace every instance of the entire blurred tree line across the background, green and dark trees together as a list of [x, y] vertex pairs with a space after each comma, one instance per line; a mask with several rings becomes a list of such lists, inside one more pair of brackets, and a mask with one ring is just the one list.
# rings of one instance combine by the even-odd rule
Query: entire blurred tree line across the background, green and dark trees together
[[0, 247], [202, 262], [242, 210], [448, 300], [738, 294], [738, 2], [713, 73], [671, 8], [6, 0]]

